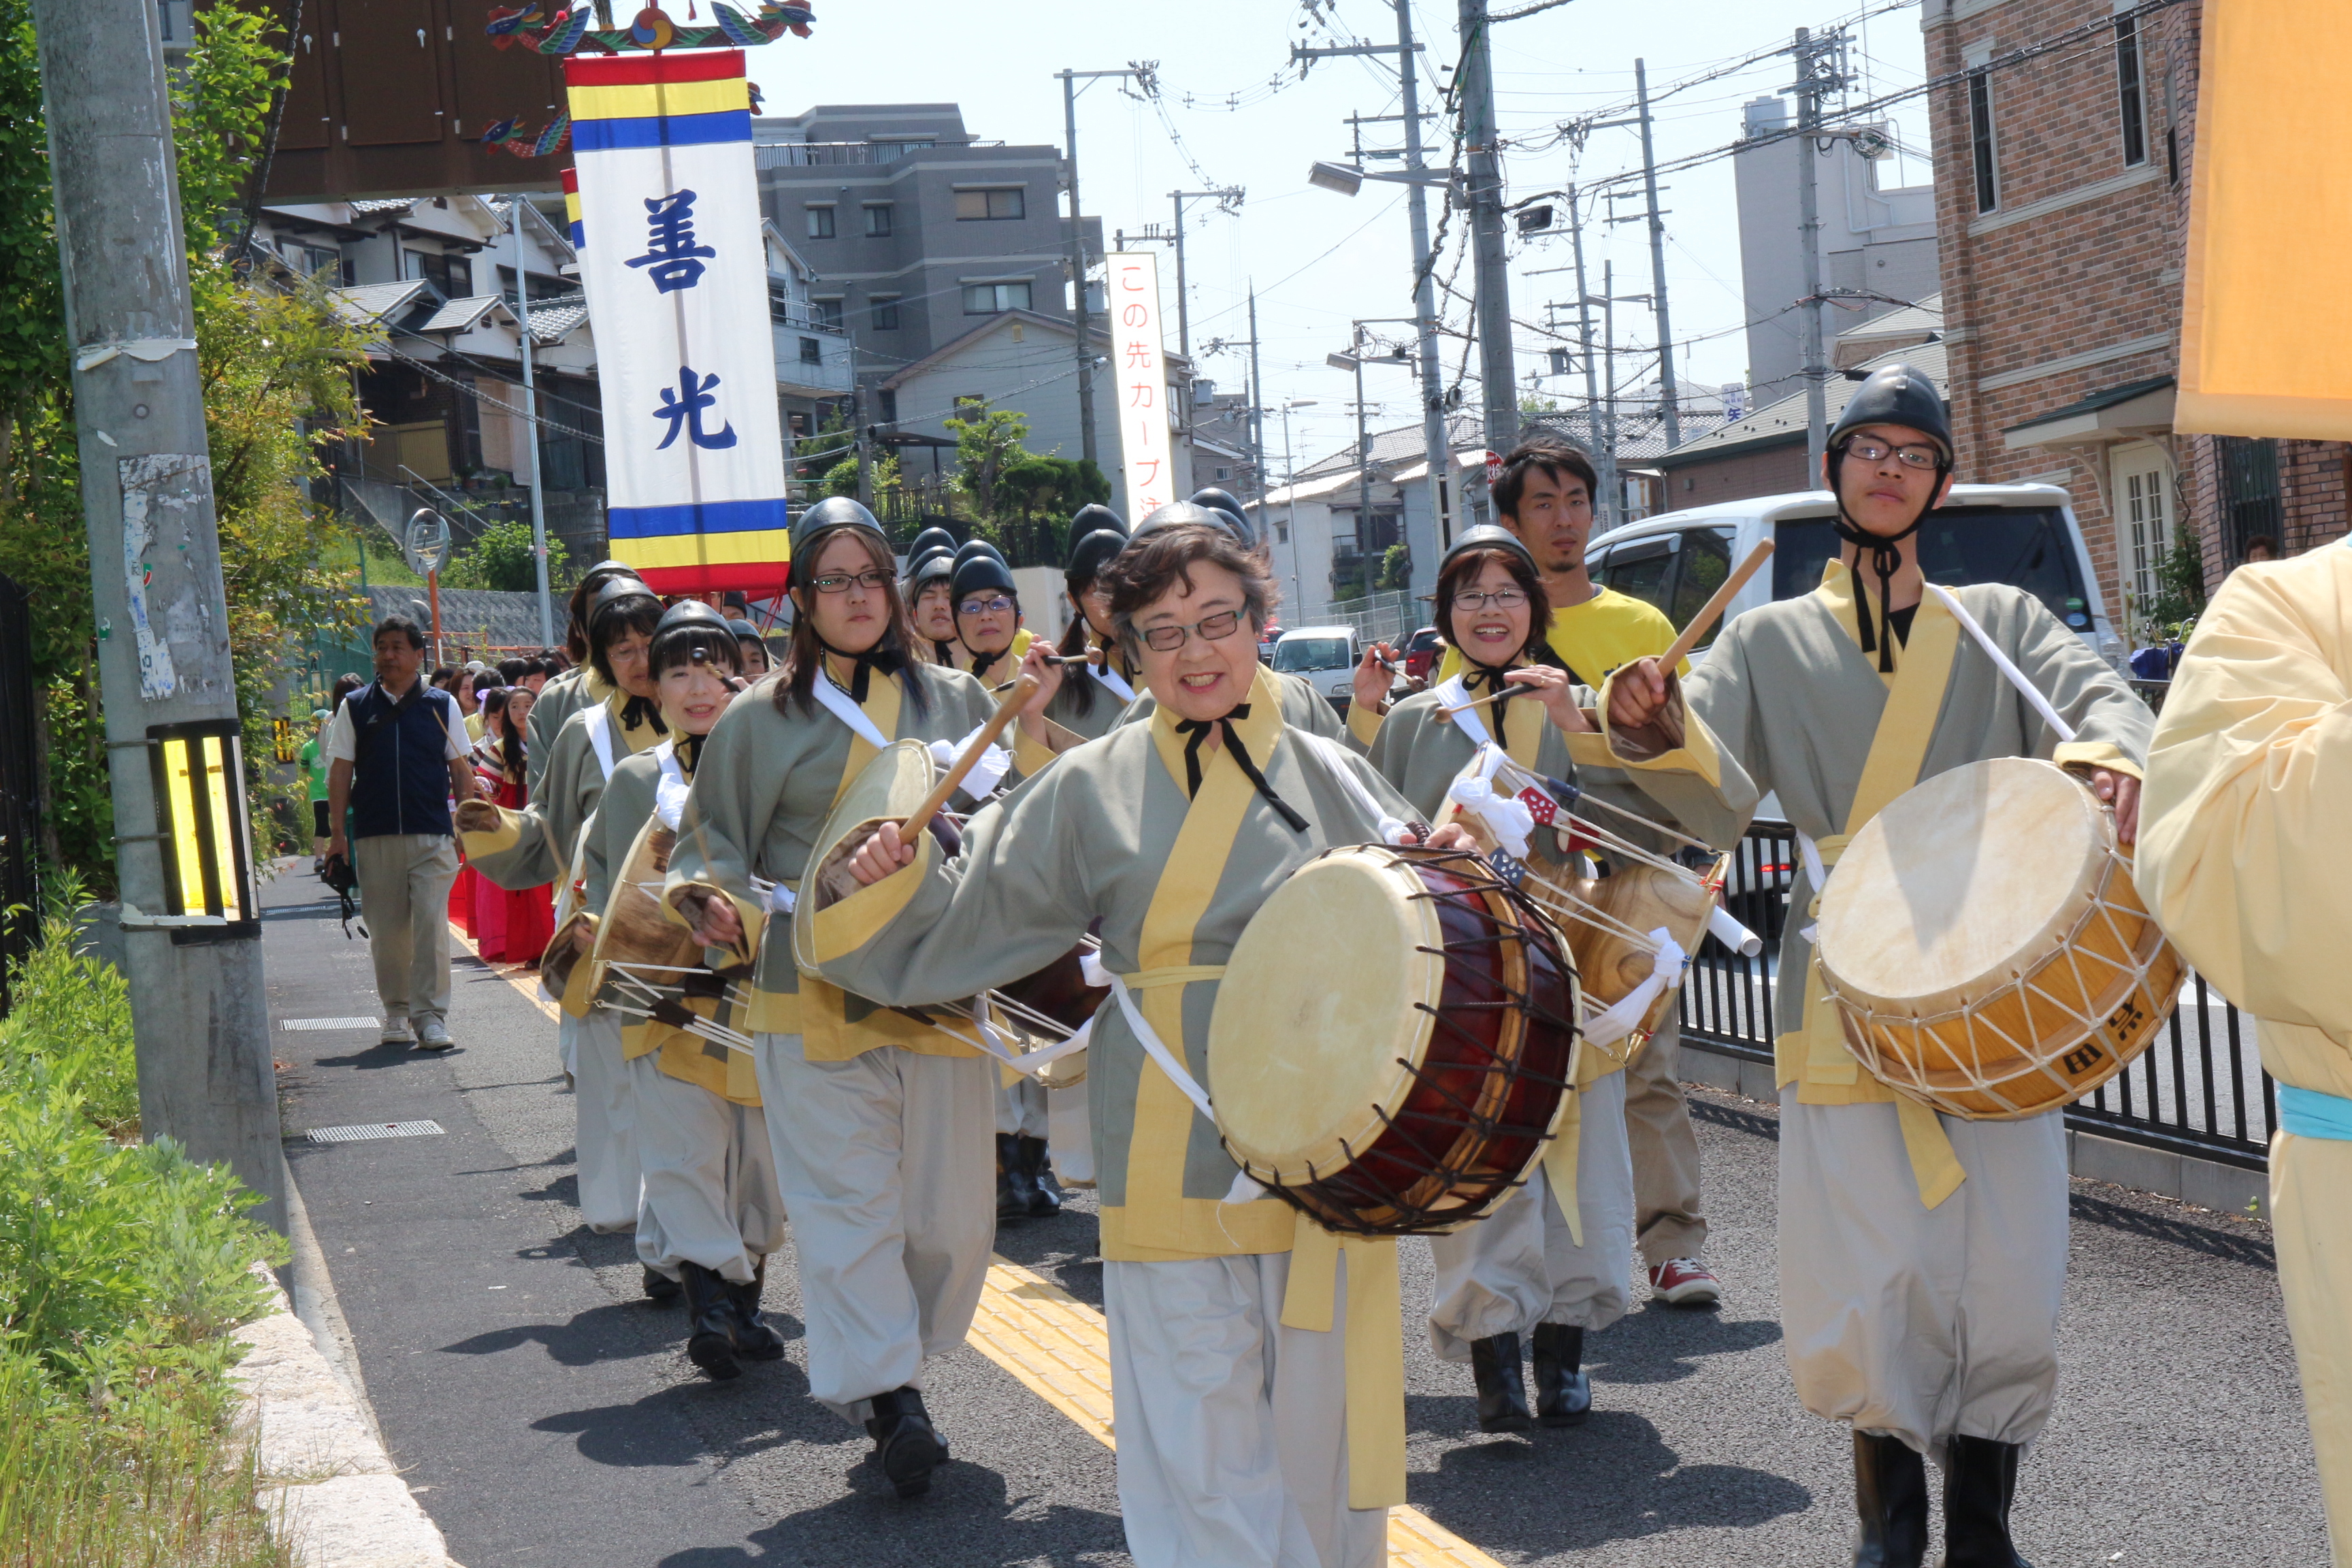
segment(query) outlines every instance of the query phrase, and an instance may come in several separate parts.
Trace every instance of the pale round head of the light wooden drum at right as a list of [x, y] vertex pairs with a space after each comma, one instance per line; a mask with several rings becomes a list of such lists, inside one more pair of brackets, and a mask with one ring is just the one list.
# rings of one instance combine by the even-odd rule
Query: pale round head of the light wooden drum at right
[[1882, 1011], [1969, 1006], [2065, 945], [2112, 832], [2056, 764], [1999, 757], [1938, 773], [1839, 856], [1820, 893], [1820, 966]]

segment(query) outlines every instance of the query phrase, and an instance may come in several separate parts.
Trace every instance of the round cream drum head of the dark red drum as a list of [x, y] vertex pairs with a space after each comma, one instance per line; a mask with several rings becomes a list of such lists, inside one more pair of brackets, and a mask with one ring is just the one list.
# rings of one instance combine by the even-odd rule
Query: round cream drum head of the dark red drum
[[1209, 1095], [1261, 1173], [1310, 1180], [1371, 1147], [1414, 1086], [1444, 990], [1444, 933], [1381, 846], [1303, 865], [1251, 917], [1209, 1020]]

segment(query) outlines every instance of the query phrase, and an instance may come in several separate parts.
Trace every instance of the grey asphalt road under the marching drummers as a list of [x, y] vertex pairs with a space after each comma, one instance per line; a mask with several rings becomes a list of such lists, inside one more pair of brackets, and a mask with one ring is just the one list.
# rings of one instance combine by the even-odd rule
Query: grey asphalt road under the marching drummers
[[[263, 893], [273, 1016], [374, 1011], [362, 940], [303, 872]], [[955, 1443], [898, 1502], [863, 1432], [807, 1399], [790, 1255], [769, 1265], [788, 1359], [729, 1385], [687, 1363], [682, 1314], [647, 1305], [626, 1237], [579, 1225], [555, 1025], [463, 959], [459, 1051], [374, 1030], [280, 1032], [287, 1154], [376, 1420], [468, 1568], [1124, 1563], [1110, 1453], [976, 1349], [934, 1368]], [[325, 1126], [445, 1133], [318, 1145]], [[1418, 1324], [1430, 1258], [1406, 1244], [1411, 1500], [1505, 1563], [1609, 1568], [1846, 1559], [1844, 1429], [1806, 1415], [1773, 1295], [1771, 1107], [1698, 1095], [1729, 1281], [1719, 1312], [1637, 1309], [1590, 1345], [1595, 1415], [1531, 1439], [1472, 1429], [1468, 1368]], [[1101, 1305], [1084, 1197], [997, 1251]], [[2037, 1568], [2326, 1563], [2326, 1528], [2267, 1227], [2077, 1182], [2065, 1380], [2025, 1462]], [[1931, 1559], [1933, 1561], [1933, 1559]]]

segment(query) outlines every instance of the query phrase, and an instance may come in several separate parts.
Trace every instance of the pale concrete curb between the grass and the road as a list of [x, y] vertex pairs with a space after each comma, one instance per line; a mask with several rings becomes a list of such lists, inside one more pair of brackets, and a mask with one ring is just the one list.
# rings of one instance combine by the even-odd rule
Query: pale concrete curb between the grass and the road
[[[301, 1227], [308, 1229], [308, 1227]], [[254, 1505], [299, 1568], [461, 1568], [409, 1495], [367, 1406], [287, 1302], [268, 1269], [270, 1312], [245, 1324], [230, 1373], [254, 1434]]]

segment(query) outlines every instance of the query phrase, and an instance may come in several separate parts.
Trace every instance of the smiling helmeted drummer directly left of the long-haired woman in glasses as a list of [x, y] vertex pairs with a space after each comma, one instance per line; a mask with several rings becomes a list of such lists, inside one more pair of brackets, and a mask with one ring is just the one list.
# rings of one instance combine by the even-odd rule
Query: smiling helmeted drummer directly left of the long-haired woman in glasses
[[[588, 820], [586, 912], [567, 933], [581, 954], [597, 947], [600, 917], [640, 863], [644, 835], [656, 825], [677, 830], [703, 736], [743, 686], [739, 646], [734, 625], [694, 599], [673, 604], [654, 625], [649, 670], [670, 733], [614, 764]], [[607, 945], [602, 957], [623, 954]], [[588, 983], [583, 971], [574, 983]], [[607, 1009], [623, 999], [614, 983], [600, 994]], [[684, 1286], [687, 1359], [717, 1380], [736, 1378], [741, 1361], [781, 1359], [783, 1335], [762, 1316], [760, 1291], [767, 1255], [783, 1246], [783, 1197], [750, 1058], [649, 1018], [621, 1027], [621, 1058], [644, 1171], [637, 1262], [647, 1276]]]

